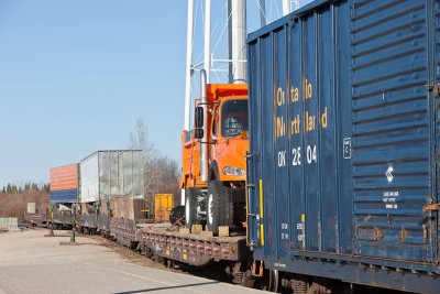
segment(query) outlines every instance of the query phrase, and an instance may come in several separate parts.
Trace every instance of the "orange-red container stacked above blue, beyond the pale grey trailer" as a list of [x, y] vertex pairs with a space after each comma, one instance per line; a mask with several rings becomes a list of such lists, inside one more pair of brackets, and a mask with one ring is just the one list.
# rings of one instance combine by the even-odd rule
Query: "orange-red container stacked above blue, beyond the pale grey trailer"
[[51, 190], [78, 188], [78, 163], [51, 168]]

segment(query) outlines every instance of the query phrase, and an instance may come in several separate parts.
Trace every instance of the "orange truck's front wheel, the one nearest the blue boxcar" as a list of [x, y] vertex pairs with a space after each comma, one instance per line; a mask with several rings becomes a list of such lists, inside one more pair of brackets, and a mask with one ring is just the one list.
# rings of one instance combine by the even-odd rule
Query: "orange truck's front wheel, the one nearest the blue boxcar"
[[207, 227], [218, 232], [220, 226], [232, 227], [233, 204], [231, 195], [223, 183], [211, 181], [208, 185]]

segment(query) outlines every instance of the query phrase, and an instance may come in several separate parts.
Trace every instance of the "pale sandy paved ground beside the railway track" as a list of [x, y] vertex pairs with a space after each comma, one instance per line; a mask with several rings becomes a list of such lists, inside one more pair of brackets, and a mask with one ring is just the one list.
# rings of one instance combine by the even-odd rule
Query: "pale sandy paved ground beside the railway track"
[[[166, 270], [101, 237], [68, 231], [0, 233], [0, 293], [258, 293], [258, 291]], [[184, 272], [183, 272], [184, 271]]]

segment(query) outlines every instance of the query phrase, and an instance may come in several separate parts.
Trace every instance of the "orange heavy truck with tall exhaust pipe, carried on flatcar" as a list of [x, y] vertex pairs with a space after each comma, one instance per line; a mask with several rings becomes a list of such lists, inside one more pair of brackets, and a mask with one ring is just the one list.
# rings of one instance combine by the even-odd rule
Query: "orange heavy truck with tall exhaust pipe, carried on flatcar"
[[182, 189], [186, 225], [240, 227], [245, 221], [248, 87], [206, 84], [195, 100], [193, 131], [184, 131]]

